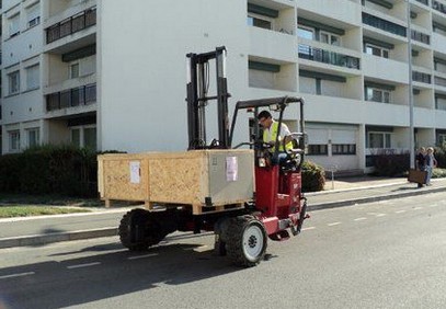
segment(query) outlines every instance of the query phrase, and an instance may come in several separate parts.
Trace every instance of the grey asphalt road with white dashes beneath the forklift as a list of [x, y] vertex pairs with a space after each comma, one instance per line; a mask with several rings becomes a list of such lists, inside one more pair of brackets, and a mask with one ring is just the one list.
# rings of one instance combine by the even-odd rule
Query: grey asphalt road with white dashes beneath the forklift
[[239, 268], [213, 236], [0, 250], [0, 308], [446, 308], [446, 193], [313, 211]]

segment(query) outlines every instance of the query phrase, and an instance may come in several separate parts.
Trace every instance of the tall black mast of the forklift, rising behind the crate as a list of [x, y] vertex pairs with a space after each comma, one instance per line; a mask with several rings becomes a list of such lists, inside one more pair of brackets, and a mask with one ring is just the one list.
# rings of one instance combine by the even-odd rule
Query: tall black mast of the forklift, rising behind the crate
[[[228, 149], [229, 117], [228, 93], [226, 78], [226, 48], [217, 47], [215, 52], [204, 54], [187, 54], [187, 128], [188, 148], [195, 149]], [[217, 76], [217, 94], [209, 95], [209, 62], [215, 59]], [[217, 101], [218, 139], [207, 145], [206, 137], [206, 106], [209, 101]]]

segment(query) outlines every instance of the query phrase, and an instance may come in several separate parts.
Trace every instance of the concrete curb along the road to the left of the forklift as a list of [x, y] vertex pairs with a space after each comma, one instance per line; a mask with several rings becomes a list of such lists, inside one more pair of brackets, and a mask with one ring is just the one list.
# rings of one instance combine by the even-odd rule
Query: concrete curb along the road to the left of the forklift
[[0, 249], [14, 248], [14, 247], [32, 247], [41, 245], [53, 242], [81, 240], [90, 238], [117, 236], [117, 228], [101, 228], [91, 230], [79, 230], [70, 232], [58, 232], [48, 234], [31, 234], [22, 237], [11, 237], [0, 239]]

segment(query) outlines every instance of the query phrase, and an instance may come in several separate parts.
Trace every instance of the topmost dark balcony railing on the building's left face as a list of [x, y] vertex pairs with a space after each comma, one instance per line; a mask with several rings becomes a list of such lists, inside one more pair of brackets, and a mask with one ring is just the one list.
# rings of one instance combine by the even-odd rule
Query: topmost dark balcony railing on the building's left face
[[96, 24], [96, 8], [91, 8], [46, 28], [46, 44]]

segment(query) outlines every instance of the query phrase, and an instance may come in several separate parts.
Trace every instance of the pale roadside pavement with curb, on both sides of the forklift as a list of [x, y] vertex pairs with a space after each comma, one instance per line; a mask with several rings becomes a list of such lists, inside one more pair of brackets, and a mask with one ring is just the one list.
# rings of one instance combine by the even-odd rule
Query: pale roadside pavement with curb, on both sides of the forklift
[[[446, 179], [418, 188], [407, 179], [328, 180], [321, 192], [306, 193], [308, 211], [445, 192]], [[134, 206], [135, 207], [135, 206]], [[0, 219], [0, 249], [117, 236], [123, 215], [133, 207], [92, 208], [91, 213]]]

